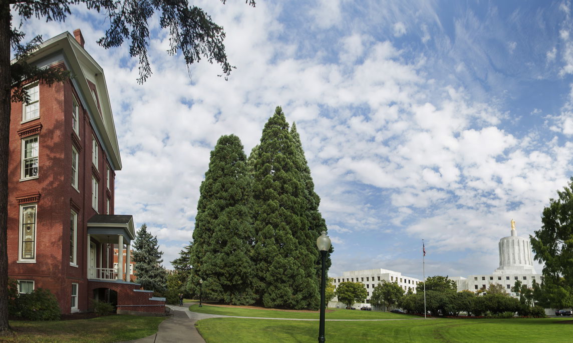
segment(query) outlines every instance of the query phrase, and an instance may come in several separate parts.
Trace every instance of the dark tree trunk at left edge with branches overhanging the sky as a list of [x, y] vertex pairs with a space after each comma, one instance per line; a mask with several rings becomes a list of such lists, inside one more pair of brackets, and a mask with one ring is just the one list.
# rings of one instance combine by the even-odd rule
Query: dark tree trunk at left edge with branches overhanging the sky
[[[225, 0], [222, 0], [225, 3]], [[246, 0], [254, 6], [254, 0]], [[225, 32], [199, 7], [189, 5], [188, 0], [107, 0], [107, 1], [9, 1], [0, 0], [0, 333], [10, 329], [7, 318], [7, 202], [8, 202], [8, 151], [10, 133], [11, 101], [28, 101], [23, 89], [25, 82], [40, 80], [50, 85], [62, 81], [69, 75], [65, 71], [38, 69], [28, 65], [28, 56], [41, 43], [41, 37], [34, 37], [29, 43], [22, 43], [25, 33], [13, 26], [10, 10], [22, 21], [32, 17], [49, 21], [64, 21], [71, 14], [70, 5], [83, 3], [88, 10], [107, 15], [109, 28], [99, 39], [99, 45], [109, 48], [130, 41], [129, 54], [140, 62], [138, 82], [144, 82], [150, 75], [147, 58], [149, 41], [148, 21], [159, 13], [159, 23], [170, 33], [171, 55], [181, 53], [186, 65], [206, 58], [210, 63], [221, 65], [223, 74], [229, 75], [233, 66], [227, 61], [223, 39]], [[15, 51], [11, 64], [10, 48]]]

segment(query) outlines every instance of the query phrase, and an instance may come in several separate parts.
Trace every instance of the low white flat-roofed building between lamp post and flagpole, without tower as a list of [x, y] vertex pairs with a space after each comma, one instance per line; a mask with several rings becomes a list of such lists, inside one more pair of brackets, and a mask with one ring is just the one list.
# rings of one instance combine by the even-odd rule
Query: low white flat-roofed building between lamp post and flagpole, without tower
[[[361, 282], [364, 284], [366, 288], [367, 297], [366, 302], [364, 303], [356, 303], [354, 304], [355, 308], [361, 308], [362, 306], [370, 307], [370, 297], [372, 296], [372, 290], [382, 280], [386, 280], [388, 282], [398, 282], [398, 285], [404, 289], [404, 292], [408, 290], [412, 290], [416, 293], [416, 285], [418, 285], [417, 278], [403, 276], [400, 272], [394, 272], [393, 270], [388, 269], [365, 269], [365, 270], [353, 270], [352, 272], [344, 272], [342, 276], [334, 277], [334, 286], [338, 288], [341, 282]], [[336, 307], [339, 306], [340, 308], [346, 307], [345, 304], [339, 302], [336, 297], [332, 299], [332, 301], [328, 302], [328, 307]]]

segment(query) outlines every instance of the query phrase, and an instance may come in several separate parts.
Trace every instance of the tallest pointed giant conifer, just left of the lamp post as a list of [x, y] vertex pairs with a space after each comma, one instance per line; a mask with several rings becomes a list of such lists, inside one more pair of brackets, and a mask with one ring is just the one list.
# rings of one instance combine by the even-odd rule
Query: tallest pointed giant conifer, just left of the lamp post
[[300, 157], [281, 107], [266, 122], [250, 155], [256, 233], [257, 291], [265, 307], [318, 308], [316, 244], [309, 246]]

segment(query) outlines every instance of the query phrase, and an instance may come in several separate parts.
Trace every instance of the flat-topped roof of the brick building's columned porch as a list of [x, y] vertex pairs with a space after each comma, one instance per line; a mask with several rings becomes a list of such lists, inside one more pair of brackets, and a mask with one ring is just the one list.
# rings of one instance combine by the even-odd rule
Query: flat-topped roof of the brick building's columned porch
[[92, 237], [123, 236], [125, 244], [135, 240], [134, 217], [117, 214], [96, 214], [88, 220]]

